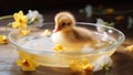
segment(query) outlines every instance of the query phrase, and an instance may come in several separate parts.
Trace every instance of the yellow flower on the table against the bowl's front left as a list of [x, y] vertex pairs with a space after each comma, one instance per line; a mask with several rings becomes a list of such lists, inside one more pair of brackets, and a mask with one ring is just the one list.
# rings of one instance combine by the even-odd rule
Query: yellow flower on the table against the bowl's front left
[[17, 61], [17, 65], [22, 67], [22, 71], [35, 71], [39, 64], [35, 62], [35, 56], [24, 51], [18, 51], [20, 60]]

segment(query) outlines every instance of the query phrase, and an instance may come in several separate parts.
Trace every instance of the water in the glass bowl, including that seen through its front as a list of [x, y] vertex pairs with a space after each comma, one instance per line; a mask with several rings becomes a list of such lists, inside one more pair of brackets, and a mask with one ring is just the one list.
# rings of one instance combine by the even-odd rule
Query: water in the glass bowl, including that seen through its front
[[[100, 43], [96, 44], [99, 46], [106, 45], [110, 46], [115, 43], [115, 40], [111, 36], [106, 36], [105, 34], [95, 33]], [[58, 66], [58, 67], [69, 67], [72, 60], [81, 60], [86, 57], [90, 62], [96, 60], [98, 56], [104, 54], [103, 52], [99, 52], [101, 50], [106, 50], [106, 46], [96, 49], [98, 54], [89, 54], [86, 52], [93, 52], [94, 49], [84, 47], [80, 53], [58, 53], [53, 50], [54, 43], [51, 41], [51, 38], [44, 38], [41, 35], [29, 35], [18, 40], [18, 43], [22, 45], [24, 51], [34, 52], [38, 56], [38, 62], [42, 65], [48, 66]], [[95, 50], [94, 50], [95, 51]], [[106, 52], [108, 55], [111, 55], [114, 52], [114, 49]], [[53, 60], [54, 58], [54, 60]]]

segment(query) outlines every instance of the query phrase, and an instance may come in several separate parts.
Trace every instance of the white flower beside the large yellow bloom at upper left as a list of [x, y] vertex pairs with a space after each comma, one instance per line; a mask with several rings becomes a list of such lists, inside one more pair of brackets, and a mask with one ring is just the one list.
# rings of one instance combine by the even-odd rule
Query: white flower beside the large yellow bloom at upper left
[[37, 11], [37, 10], [34, 10], [34, 11], [29, 10], [27, 15], [28, 15], [30, 24], [32, 23], [34, 26], [40, 26], [40, 28], [44, 25], [43, 24], [43, 21], [44, 21], [43, 15], [40, 14], [39, 11]]

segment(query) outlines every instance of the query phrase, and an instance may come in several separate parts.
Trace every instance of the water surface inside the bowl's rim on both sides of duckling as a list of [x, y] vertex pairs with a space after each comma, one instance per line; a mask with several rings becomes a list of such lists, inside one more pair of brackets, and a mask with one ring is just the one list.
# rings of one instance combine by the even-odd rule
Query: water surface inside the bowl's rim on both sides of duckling
[[[114, 43], [116, 43], [116, 41], [106, 35], [106, 34], [100, 34], [100, 33], [94, 33], [94, 36], [96, 36], [96, 40], [99, 40], [99, 43], [94, 44], [96, 46], [99, 46], [99, 49], [96, 50], [104, 50], [106, 46], [110, 46]], [[29, 36], [24, 36], [18, 40], [18, 44], [28, 47], [30, 50], [34, 50], [34, 51], [42, 51], [42, 52], [55, 52], [53, 50], [53, 47], [55, 46], [55, 44], [52, 42], [51, 38], [44, 38], [41, 35], [37, 35], [37, 34], [32, 34]], [[94, 51], [95, 49], [93, 47], [86, 47], [84, 46], [82, 49], [82, 52], [91, 52]]]

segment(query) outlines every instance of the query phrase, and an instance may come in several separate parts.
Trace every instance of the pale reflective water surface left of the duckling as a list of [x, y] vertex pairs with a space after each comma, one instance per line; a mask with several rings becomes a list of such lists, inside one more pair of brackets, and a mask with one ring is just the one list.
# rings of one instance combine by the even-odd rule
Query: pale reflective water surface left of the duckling
[[50, 38], [43, 38], [43, 36], [25, 36], [19, 39], [18, 43], [31, 50], [47, 51], [47, 52], [53, 52], [52, 47], [54, 46]]

